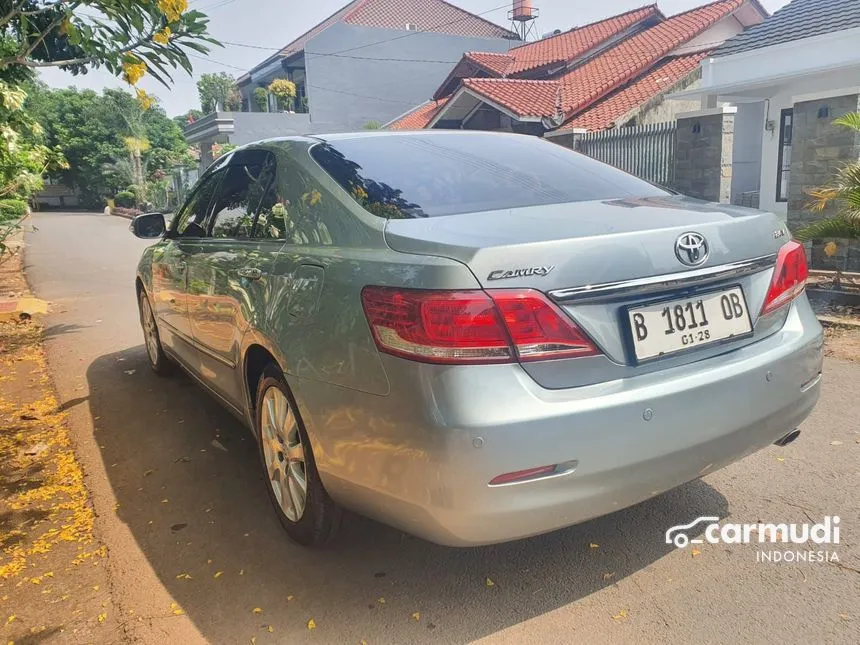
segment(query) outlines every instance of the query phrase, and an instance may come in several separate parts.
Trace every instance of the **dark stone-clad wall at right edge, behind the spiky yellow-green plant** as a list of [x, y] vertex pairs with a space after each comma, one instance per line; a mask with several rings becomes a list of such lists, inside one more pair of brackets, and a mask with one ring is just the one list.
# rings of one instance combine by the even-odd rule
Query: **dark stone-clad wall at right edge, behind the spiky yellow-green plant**
[[[788, 182], [788, 226], [796, 230], [821, 217], [836, 214], [834, 206], [823, 213], [809, 208], [809, 191], [831, 181], [840, 165], [860, 159], [860, 133], [833, 125], [833, 119], [860, 109], [860, 96], [851, 94], [794, 104], [791, 137], [791, 176]], [[860, 271], [860, 244], [838, 242], [838, 251], [824, 253], [827, 240], [812, 244], [811, 264], [816, 269]]]

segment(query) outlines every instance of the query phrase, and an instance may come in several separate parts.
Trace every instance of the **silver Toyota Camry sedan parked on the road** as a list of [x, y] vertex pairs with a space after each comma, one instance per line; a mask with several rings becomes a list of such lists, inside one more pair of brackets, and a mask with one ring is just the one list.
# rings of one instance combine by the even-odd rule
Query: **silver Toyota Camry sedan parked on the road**
[[536, 137], [262, 141], [167, 220], [132, 223], [152, 367], [248, 425], [302, 544], [342, 508], [447, 545], [552, 531], [793, 441], [818, 399], [776, 216]]

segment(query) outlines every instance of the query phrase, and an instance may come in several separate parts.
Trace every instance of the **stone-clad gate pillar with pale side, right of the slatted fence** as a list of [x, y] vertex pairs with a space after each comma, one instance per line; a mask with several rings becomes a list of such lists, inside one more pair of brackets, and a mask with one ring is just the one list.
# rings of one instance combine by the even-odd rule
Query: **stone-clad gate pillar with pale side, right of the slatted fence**
[[711, 202], [731, 201], [736, 112], [718, 107], [678, 115], [675, 190]]

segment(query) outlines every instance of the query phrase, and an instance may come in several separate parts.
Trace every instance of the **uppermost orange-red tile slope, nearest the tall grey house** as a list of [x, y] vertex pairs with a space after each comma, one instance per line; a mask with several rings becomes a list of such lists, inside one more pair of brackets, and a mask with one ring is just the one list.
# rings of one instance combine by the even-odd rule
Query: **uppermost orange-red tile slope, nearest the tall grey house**
[[662, 18], [656, 4], [633, 9], [606, 20], [575, 27], [563, 34], [520, 45], [510, 50], [514, 63], [507, 75], [519, 74], [537, 67], [572, 61], [601, 43], [618, 36], [626, 29], [648, 18]]

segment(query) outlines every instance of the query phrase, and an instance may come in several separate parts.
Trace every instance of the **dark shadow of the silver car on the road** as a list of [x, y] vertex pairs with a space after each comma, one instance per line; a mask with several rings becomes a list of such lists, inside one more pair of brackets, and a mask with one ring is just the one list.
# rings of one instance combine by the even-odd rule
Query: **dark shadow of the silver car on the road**
[[509, 544], [440, 547], [347, 514], [331, 546], [306, 549], [269, 507], [250, 433], [190, 378], [158, 378], [142, 346], [98, 358], [87, 378], [117, 513], [213, 643], [470, 641], [648, 566], [671, 550], [672, 525], [728, 513], [694, 481]]

